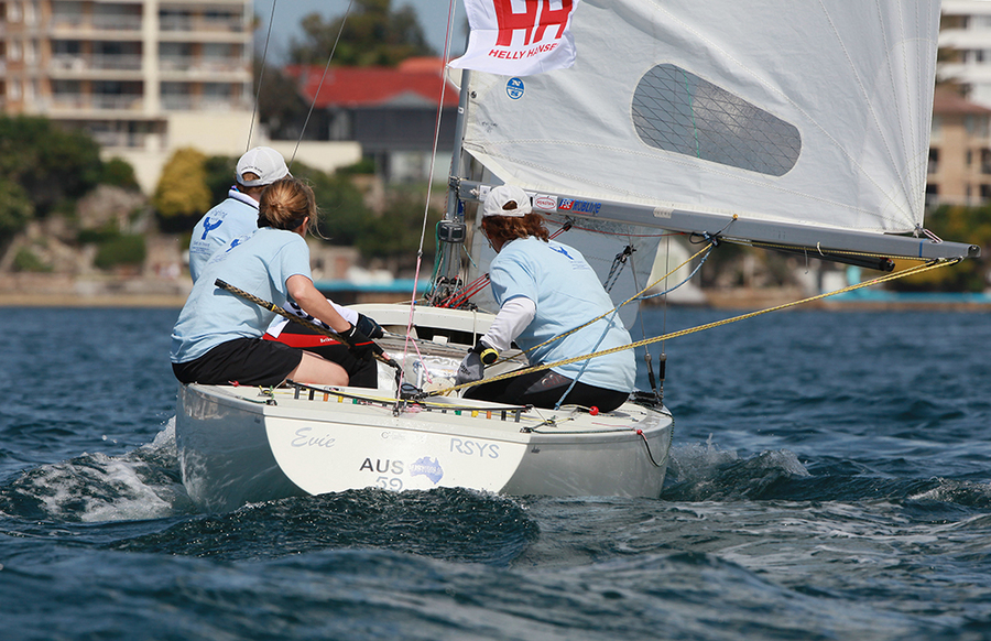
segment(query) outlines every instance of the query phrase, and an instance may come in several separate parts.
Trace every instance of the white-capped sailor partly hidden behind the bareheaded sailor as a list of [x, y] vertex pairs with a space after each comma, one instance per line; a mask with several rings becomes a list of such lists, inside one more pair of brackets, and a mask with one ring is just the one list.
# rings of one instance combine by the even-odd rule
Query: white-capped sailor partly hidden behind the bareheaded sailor
[[189, 275], [194, 283], [214, 252], [254, 233], [262, 191], [288, 175], [282, 154], [270, 146], [257, 146], [238, 160], [237, 184], [230, 188], [227, 198], [207, 211], [193, 228]]

